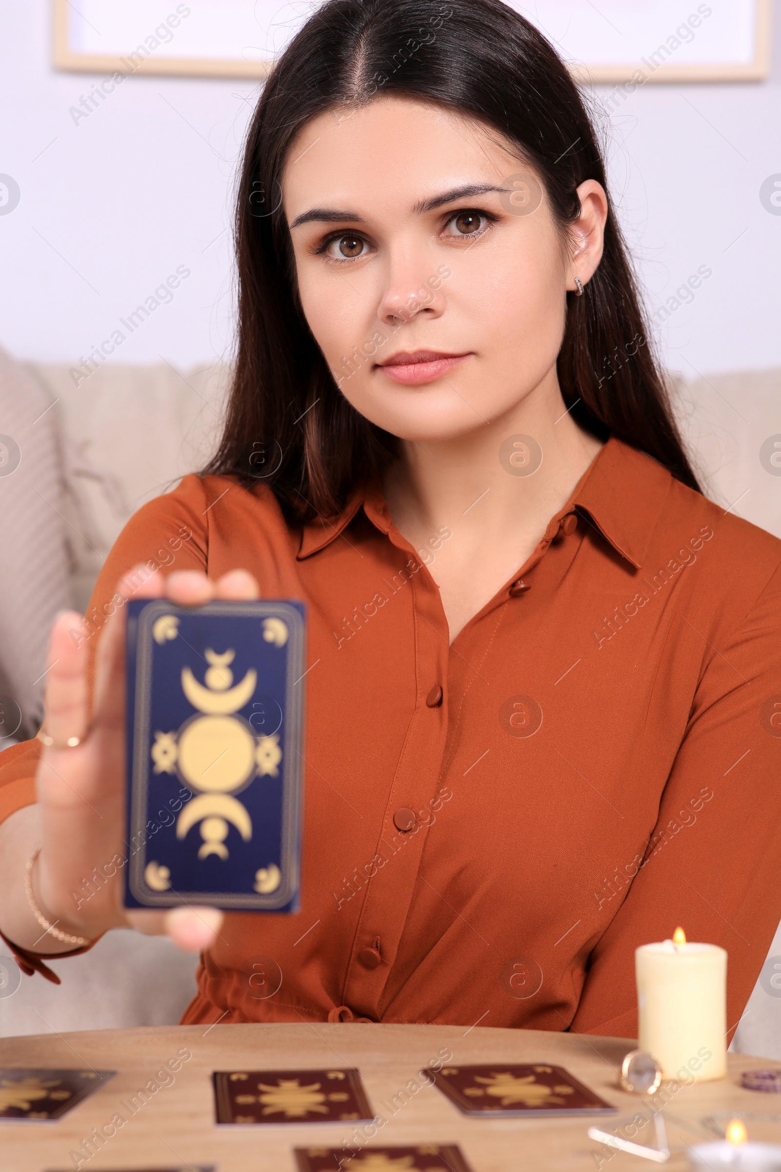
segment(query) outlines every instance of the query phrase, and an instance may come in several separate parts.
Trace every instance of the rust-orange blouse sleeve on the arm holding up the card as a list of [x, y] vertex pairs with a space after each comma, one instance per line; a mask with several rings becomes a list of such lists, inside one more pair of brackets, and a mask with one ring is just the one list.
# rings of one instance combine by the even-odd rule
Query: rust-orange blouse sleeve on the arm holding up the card
[[[98, 574], [93, 597], [84, 615], [84, 628], [74, 632], [75, 638], [87, 638], [89, 703], [93, 703], [95, 650], [105, 620], [112, 615], [123, 599], [116, 592], [122, 575], [132, 566], [144, 563], [150, 570], [164, 574], [173, 570], [207, 570], [207, 503], [204, 482], [190, 475], [178, 488], [157, 497], [133, 513], [119, 533]], [[11, 745], [0, 752], [0, 822], [22, 806], [35, 802], [35, 771], [40, 757], [40, 741], [33, 738]], [[19, 967], [25, 973], [40, 972], [59, 983], [59, 977], [47, 968], [35, 953], [18, 948], [0, 935], [14, 950]], [[91, 947], [91, 945], [89, 946]], [[76, 955], [84, 952], [59, 955]], [[53, 956], [53, 954], [48, 954]]]

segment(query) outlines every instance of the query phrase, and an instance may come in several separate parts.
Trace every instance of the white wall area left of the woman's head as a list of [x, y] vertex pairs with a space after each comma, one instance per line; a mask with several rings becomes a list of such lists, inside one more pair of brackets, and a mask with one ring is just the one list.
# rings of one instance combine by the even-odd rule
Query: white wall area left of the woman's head
[[211, 361], [232, 332], [225, 229], [256, 83], [131, 76], [75, 124], [101, 75], [56, 73], [49, 45], [47, 0], [1, 0], [0, 172], [21, 199], [0, 216], [0, 345], [77, 359], [184, 265], [115, 359]]

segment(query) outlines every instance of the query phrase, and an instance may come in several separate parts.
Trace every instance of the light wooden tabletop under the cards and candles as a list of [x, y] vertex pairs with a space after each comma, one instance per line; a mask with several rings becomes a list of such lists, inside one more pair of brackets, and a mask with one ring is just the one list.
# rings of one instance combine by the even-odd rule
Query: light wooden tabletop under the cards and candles
[[[459, 1144], [474, 1172], [505, 1170], [588, 1170], [605, 1150], [587, 1136], [589, 1125], [611, 1130], [628, 1120], [645, 1099], [619, 1090], [616, 1072], [633, 1043], [537, 1030], [464, 1029], [460, 1026], [269, 1024], [177, 1026], [34, 1037], [0, 1042], [0, 1065], [117, 1070], [115, 1078], [57, 1123], [0, 1124], [2, 1172], [64, 1172], [74, 1168], [70, 1152], [94, 1127], [109, 1123], [162, 1063], [180, 1048], [191, 1051], [171, 1085], [162, 1086], [109, 1139], [82, 1170], [184, 1168], [214, 1164], [219, 1172], [294, 1172], [294, 1147], [338, 1147], [352, 1124], [273, 1124], [217, 1127], [212, 1070], [357, 1067], [377, 1113], [388, 1122], [374, 1139], [359, 1144]], [[619, 1108], [618, 1117], [548, 1119], [470, 1119], [436, 1088], [417, 1078], [417, 1091], [399, 1095], [418, 1071], [443, 1052], [458, 1063], [546, 1062], [566, 1067], [597, 1093]], [[657, 1166], [678, 1172], [687, 1167], [686, 1144], [713, 1138], [700, 1124], [711, 1112], [779, 1112], [776, 1096], [744, 1090], [741, 1070], [767, 1067], [767, 1059], [729, 1055], [729, 1075], [714, 1083], [680, 1086], [665, 1108], [672, 1157], [666, 1165], [623, 1152], [605, 1159], [610, 1172]], [[165, 1079], [160, 1079], [164, 1082]], [[389, 1106], [396, 1096], [397, 1109]], [[779, 1097], [781, 1098], [781, 1096]], [[649, 1112], [650, 1113], [650, 1112]], [[765, 1124], [765, 1136], [781, 1139], [781, 1124]], [[749, 1124], [751, 1132], [751, 1124]], [[639, 1137], [640, 1140], [643, 1137]], [[652, 1142], [649, 1137], [648, 1142]], [[365, 1150], [365, 1149], [364, 1149]], [[345, 1167], [358, 1172], [359, 1158]]]

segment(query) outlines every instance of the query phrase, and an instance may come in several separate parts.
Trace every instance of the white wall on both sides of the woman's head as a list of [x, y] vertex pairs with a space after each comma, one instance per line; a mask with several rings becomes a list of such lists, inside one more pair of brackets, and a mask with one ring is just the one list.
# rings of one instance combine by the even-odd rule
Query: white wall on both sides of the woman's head
[[[713, 0], [713, 20], [727, 2]], [[536, 7], [542, 18], [543, 0]], [[781, 0], [774, 36], [768, 82], [646, 84], [607, 120], [614, 195], [650, 307], [712, 270], [660, 338], [667, 364], [688, 377], [781, 366], [781, 216], [759, 199], [781, 172]], [[55, 73], [49, 42], [47, 0], [0, 0], [0, 172], [21, 189], [0, 216], [0, 345], [22, 359], [77, 359], [185, 266], [173, 300], [115, 360], [224, 355], [225, 230], [256, 87], [132, 76], [74, 124], [69, 107], [100, 77]]]

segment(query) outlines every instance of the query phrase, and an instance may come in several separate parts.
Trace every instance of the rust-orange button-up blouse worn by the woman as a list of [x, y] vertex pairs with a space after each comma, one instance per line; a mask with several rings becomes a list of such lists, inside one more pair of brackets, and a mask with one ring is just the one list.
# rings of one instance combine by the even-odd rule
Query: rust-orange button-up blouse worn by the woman
[[[186, 1022], [633, 1037], [635, 948], [680, 924], [727, 949], [737, 1024], [781, 919], [780, 540], [610, 438], [452, 647], [377, 484], [301, 531], [262, 484], [185, 477], [94, 627], [137, 561], [308, 604], [301, 911], [227, 915]], [[0, 817], [36, 749], [0, 757]]]

